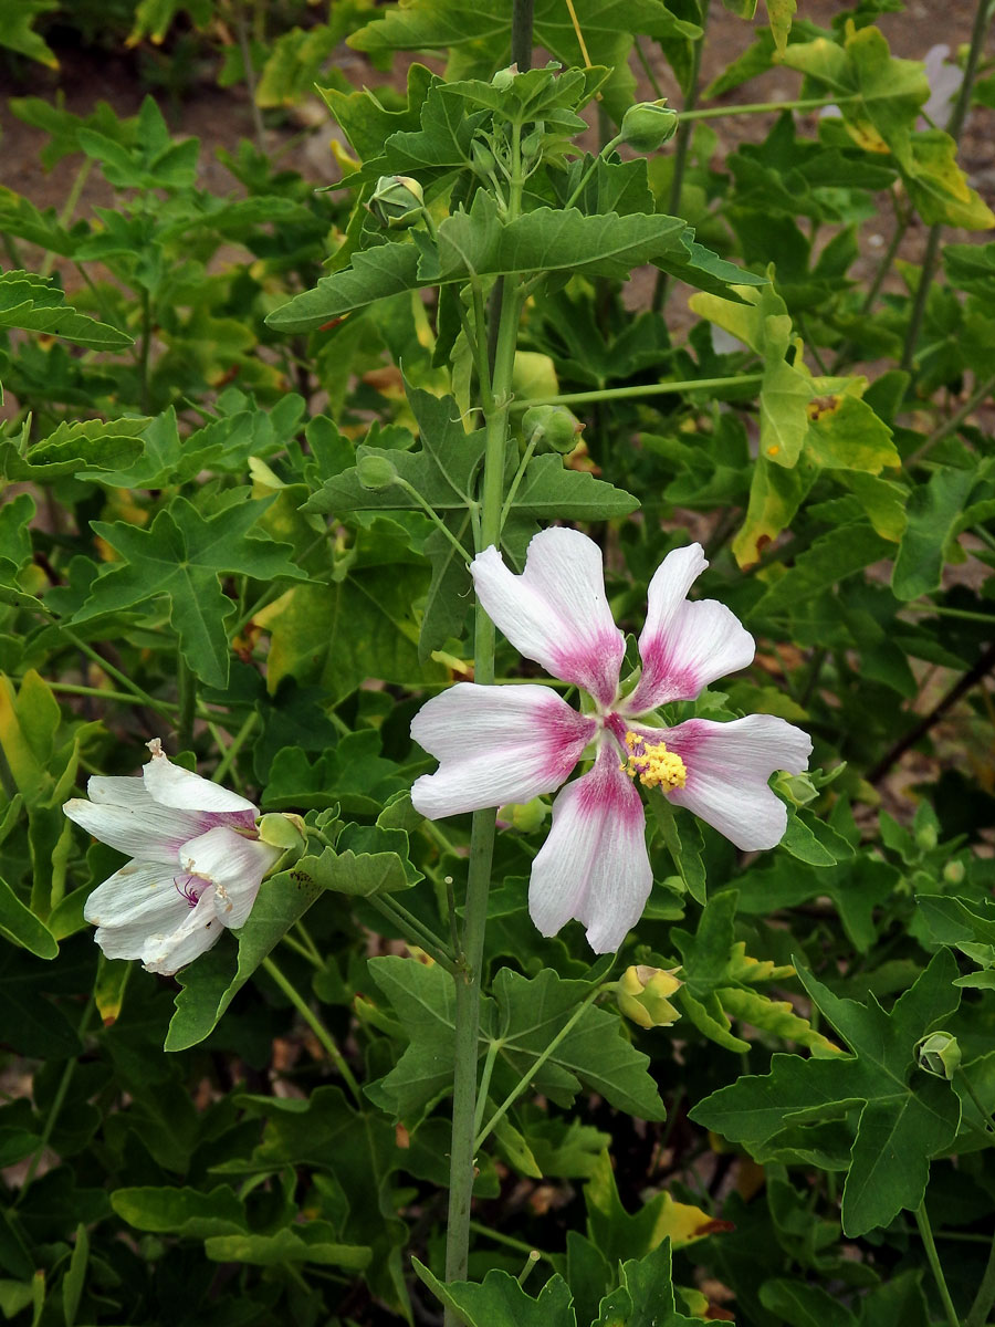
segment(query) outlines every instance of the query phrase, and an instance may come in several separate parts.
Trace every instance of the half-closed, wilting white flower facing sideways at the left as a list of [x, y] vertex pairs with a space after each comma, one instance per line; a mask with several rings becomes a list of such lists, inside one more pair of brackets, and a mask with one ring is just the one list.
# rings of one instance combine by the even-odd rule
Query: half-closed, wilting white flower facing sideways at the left
[[65, 813], [131, 857], [86, 900], [107, 958], [141, 958], [175, 973], [199, 958], [223, 926], [241, 926], [281, 849], [259, 841], [259, 809], [236, 792], [183, 770], [149, 743], [137, 778], [94, 775]]

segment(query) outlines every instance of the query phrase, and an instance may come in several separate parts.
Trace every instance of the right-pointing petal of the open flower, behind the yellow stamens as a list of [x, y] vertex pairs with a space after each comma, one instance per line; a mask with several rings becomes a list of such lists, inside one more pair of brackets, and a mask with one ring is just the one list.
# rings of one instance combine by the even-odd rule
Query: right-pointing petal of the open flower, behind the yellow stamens
[[687, 807], [738, 848], [754, 852], [781, 841], [788, 823], [784, 803], [767, 787], [775, 770], [808, 768], [812, 739], [772, 714], [751, 714], [732, 723], [689, 719], [654, 733], [687, 767], [687, 783], [667, 796]]

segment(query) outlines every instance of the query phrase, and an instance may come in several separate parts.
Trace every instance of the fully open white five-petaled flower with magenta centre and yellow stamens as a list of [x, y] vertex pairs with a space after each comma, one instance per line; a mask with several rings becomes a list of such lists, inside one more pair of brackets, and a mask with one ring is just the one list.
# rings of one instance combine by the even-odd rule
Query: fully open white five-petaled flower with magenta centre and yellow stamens
[[805, 733], [769, 714], [689, 719], [673, 729], [653, 718], [658, 706], [693, 701], [708, 682], [752, 662], [754, 638], [730, 609], [687, 598], [707, 565], [700, 545], [690, 544], [657, 568], [639, 636], [642, 673], [622, 694], [625, 637], [612, 618], [593, 540], [544, 529], [521, 576], [494, 547], [474, 559], [478, 598], [508, 641], [592, 703], [578, 713], [535, 683], [456, 683], [411, 723], [411, 735], [439, 760], [435, 774], [415, 782], [411, 799], [431, 820], [528, 802], [559, 788], [593, 743], [593, 767], [556, 798], [532, 864], [529, 912], [544, 936], [576, 917], [592, 949], [609, 953], [642, 914], [653, 871], [637, 779], [738, 848], [772, 848], [784, 835], [787, 811], [767, 780], [775, 770], [807, 768]]

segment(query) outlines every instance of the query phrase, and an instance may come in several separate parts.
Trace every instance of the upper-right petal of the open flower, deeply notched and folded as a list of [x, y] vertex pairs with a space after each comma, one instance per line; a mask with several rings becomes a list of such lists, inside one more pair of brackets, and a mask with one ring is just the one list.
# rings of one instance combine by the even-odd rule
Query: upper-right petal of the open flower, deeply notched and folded
[[639, 636], [642, 677], [624, 713], [693, 701], [708, 682], [752, 664], [754, 637], [735, 613], [714, 598], [687, 598], [707, 565], [702, 545], [689, 544], [667, 553], [657, 568]]

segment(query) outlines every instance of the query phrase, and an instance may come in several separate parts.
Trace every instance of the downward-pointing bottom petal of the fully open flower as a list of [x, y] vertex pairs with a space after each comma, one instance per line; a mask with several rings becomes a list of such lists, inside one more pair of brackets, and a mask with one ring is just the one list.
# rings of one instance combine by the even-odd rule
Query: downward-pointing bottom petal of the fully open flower
[[544, 936], [576, 917], [596, 954], [618, 949], [653, 888], [645, 824], [639, 794], [605, 743], [594, 768], [553, 803], [553, 827], [532, 863], [528, 910]]

